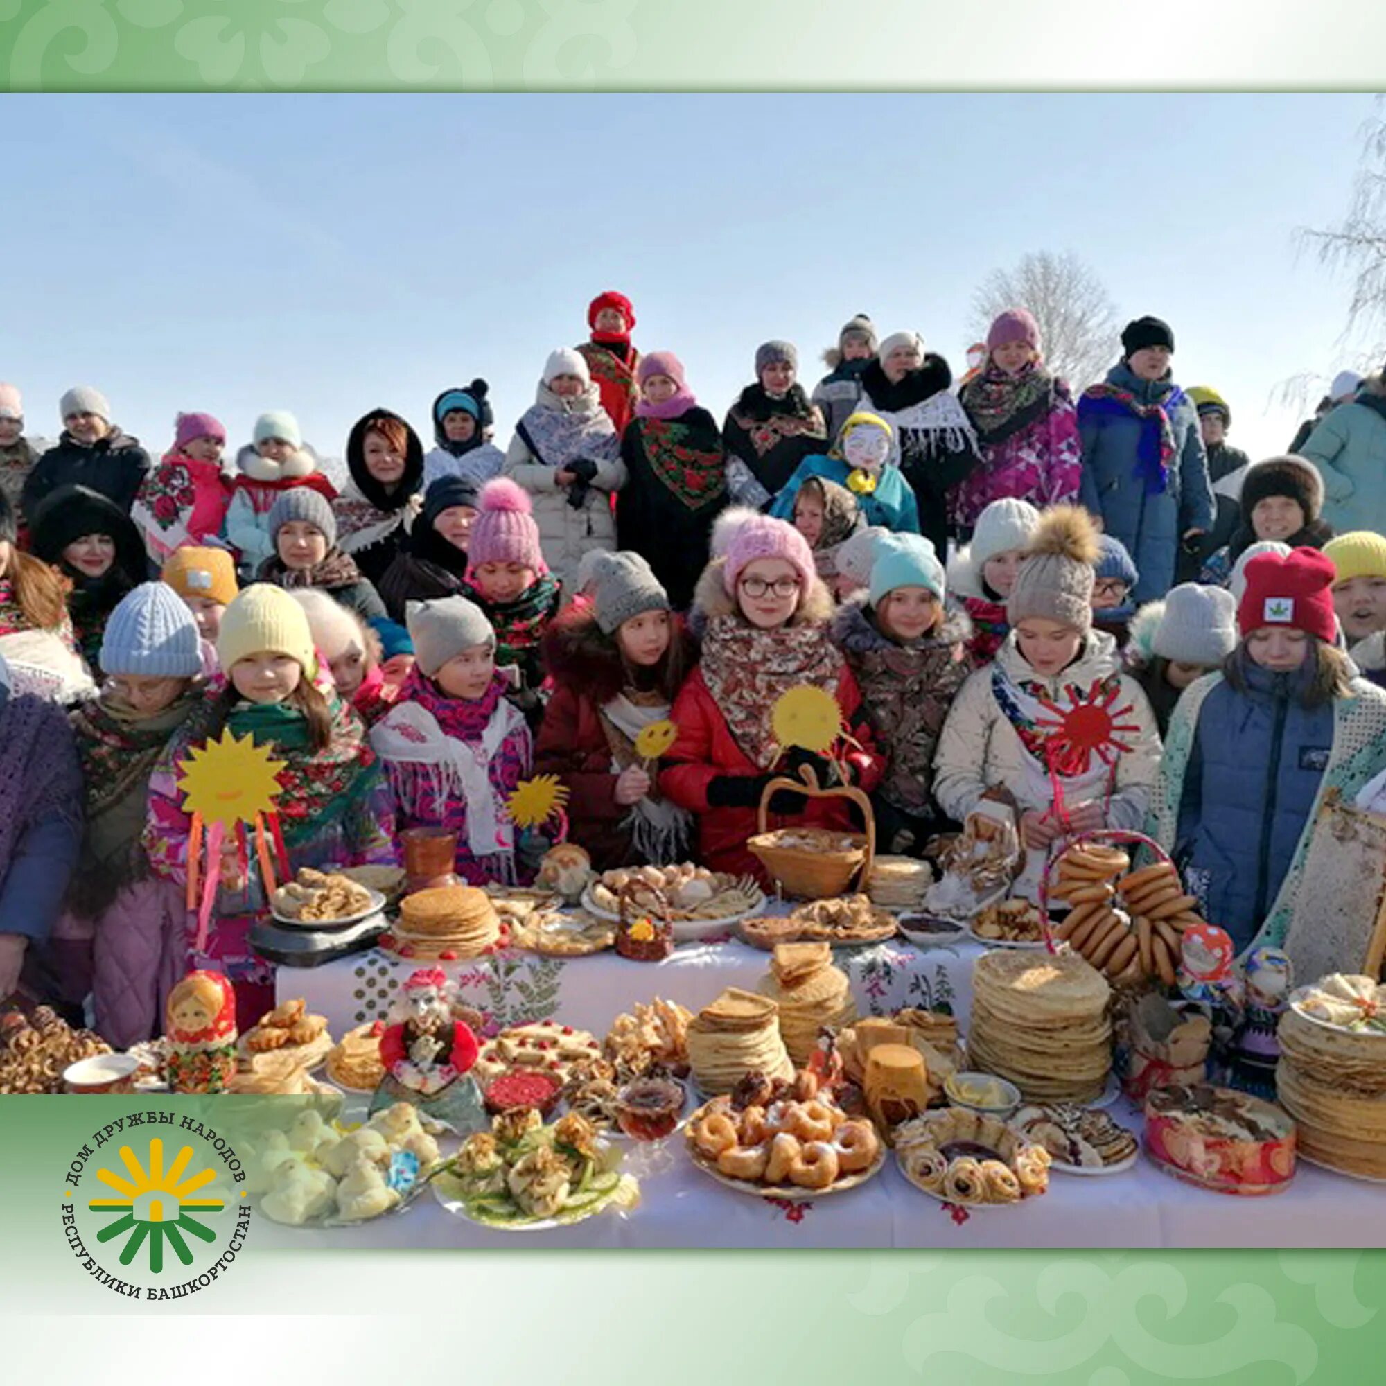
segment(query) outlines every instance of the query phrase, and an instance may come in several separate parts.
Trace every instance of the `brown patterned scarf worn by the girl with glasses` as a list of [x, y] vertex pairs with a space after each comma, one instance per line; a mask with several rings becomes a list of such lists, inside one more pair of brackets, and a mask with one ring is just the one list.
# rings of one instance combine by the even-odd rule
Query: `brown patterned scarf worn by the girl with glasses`
[[737, 615], [715, 615], [703, 636], [700, 667], [736, 744], [765, 771], [783, 750], [771, 725], [776, 699], [798, 683], [836, 696], [844, 664], [819, 625], [762, 631]]

